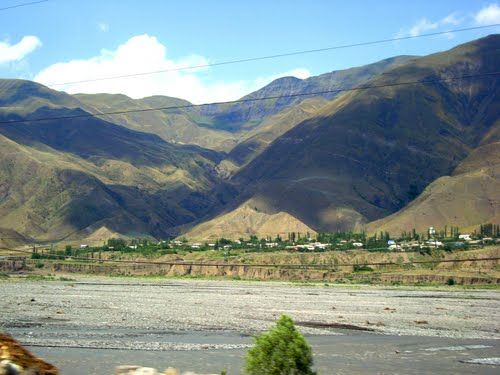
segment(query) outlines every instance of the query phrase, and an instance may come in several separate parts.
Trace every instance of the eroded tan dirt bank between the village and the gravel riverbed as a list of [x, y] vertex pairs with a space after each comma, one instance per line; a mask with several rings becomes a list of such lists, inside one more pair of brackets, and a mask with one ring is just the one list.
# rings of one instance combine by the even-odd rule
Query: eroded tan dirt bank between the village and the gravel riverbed
[[[187, 276], [389, 285], [500, 284], [500, 263], [496, 259], [500, 257], [500, 247], [431, 254], [357, 251], [305, 254], [251, 253], [227, 258], [222, 258], [217, 252], [153, 258], [120, 253], [108, 253], [103, 256], [101, 263], [31, 259], [26, 259], [24, 262], [0, 261], [0, 269], [42, 275], [59, 273], [103, 276]], [[450, 262], [463, 259], [467, 260]], [[134, 263], [136, 261], [143, 263]], [[310, 265], [314, 267], [309, 268]]]

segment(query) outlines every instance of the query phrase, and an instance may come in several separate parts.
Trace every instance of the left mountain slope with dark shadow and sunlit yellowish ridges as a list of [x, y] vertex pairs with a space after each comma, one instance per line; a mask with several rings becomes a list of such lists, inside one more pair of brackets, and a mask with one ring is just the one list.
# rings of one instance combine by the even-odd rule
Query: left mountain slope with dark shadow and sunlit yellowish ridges
[[[0, 121], [85, 113], [54, 105], [21, 115], [17, 106], [3, 107]], [[1, 124], [0, 143], [0, 227], [39, 240], [101, 226], [164, 237], [225, 202], [215, 173], [223, 155], [99, 118]]]

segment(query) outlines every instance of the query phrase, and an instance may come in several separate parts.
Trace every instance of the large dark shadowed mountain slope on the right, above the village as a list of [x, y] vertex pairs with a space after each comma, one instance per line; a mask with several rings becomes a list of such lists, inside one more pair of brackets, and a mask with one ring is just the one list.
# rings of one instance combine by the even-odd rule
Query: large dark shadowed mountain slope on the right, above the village
[[[500, 36], [410, 60], [386, 85], [498, 70]], [[239, 171], [233, 183], [314, 229], [393, 213], [450, 174], [498, 120], [498, 76], [345, 93]]]

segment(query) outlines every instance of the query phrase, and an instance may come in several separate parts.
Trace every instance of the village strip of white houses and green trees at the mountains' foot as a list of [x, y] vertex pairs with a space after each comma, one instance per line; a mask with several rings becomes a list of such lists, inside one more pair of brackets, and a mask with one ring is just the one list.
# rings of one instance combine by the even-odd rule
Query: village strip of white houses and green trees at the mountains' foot
[[336, 233], [286, 233], [275, 237], [227, 239], [218, 238], [211, 241], [190, 240], [176, 238], [171, 240], [153, 241], [151, 239], [111, 238], [100, 246], [81, 243], [75, 245], [34, 245], [30, 250], [32, 258], [41, 258], [45, 255], [77, 256], [82, 254], [106, 251], [127, 253], [149, 253], [150, 255], [176, 254], [179, 252], [225, 251], [244, 250], [245, 252], [326, 252], [326, 251], [356, 251], [371, 252], [406, 252], [430, 251], [441, 249], [445, 251], [469, 250], [487, 245], [500, 243], [500, 226], [484, 224], [479, 230], [461, 233], [458, 228], [445, 227], [437, 230], [429, 227], [426, 233], [417, 233], [415, 230], [404, 232], [398, 237], [388, 232], [375, 233], [368, 236], [366, 233], [336, 232]]

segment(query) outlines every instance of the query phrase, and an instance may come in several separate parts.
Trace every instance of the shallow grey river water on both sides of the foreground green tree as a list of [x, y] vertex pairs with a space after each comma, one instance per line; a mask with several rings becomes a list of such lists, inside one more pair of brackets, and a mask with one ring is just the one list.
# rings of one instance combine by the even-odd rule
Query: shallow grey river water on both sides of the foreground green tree
[[[204, 374], [219, 374], [221, 370], [241, 374], [247, 348], [238, 346], [250, 345], [253, 341], [251, 337], [234, 332], [135, 332], [133, 336], [138, 340], [136, 344], [160, 342], [170, 345], [171, 349], [40, 346], [29, 349], [60, 368], [62, 374], [113, 374], [114, 368], [123, 364], [157, 369], [171, 366]], [[122, 340], [106, 344], [120, 346]], [[498, 340], [388, 336], [359, 331], [307, 336], [307, 340], [314, 352], [315, 369], [320, 374], [498, 374], [500, 371], [498, 366], [462, 362], [500, 357]], [[98, 340], [94, 343], [99, 345]], [[221, 348], [214, 349], [217, 345]]]

